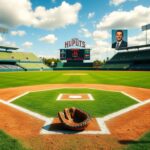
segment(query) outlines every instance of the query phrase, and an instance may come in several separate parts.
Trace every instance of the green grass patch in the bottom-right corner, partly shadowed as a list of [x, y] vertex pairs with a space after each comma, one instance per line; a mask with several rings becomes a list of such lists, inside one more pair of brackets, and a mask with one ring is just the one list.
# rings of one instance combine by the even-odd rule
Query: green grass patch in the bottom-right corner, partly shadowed
[[126, 150], [150, 150], [150, 132], [142, 136], [138, 141], [128, 141]]

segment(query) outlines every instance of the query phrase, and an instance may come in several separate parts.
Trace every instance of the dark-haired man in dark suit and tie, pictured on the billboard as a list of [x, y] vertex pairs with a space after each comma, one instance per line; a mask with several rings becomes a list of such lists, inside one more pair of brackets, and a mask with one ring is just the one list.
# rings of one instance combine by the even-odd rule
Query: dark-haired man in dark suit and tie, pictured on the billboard
[[123, 40], [123, 31], [117, 30], [116, 31], [116, 42], [112, 44], [112, 48], [120, 49], [123, 47], [127, 47], [127, 42]]

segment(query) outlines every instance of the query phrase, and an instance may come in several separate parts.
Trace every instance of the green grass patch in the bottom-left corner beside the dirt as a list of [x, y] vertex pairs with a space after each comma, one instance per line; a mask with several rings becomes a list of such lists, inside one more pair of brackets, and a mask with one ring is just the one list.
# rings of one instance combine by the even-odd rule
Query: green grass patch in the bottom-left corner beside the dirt
[[27, 150], [19, 141], [0, 130], [0, 150]]

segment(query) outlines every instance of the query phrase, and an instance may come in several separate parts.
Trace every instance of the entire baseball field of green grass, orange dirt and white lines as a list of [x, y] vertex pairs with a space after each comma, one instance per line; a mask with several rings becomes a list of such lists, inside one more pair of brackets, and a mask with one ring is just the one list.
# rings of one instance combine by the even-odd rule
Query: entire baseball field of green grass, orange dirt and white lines
[[[93, 99], [58, 100], [60, 94]], [[90, 114], [88, 129], [57, 129], [57, 113], [68, 107]], [[150, 72], [2, 72], [0, 112], [0, 150], [149, 150]]]

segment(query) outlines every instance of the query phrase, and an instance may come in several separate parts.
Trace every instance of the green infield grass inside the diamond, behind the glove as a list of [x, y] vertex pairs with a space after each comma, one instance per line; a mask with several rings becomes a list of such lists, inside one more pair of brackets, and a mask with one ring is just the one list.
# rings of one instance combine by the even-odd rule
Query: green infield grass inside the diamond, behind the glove
[[[95, 100], [56, 101], [60, 93], [91, 93]], [[13, 103], [49, 117], [55, 117], [58, 111], [73, 106], [88, 112], [93, 117], [102, 117], [137, 102], [119, 92], [93, 89], [59, 89], [29, 93], [13, 101]]]

